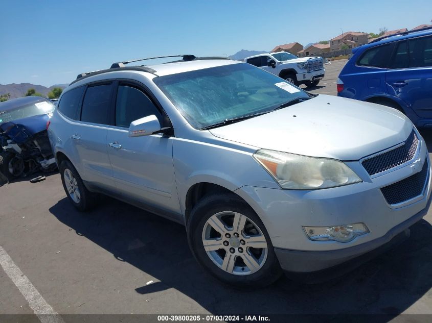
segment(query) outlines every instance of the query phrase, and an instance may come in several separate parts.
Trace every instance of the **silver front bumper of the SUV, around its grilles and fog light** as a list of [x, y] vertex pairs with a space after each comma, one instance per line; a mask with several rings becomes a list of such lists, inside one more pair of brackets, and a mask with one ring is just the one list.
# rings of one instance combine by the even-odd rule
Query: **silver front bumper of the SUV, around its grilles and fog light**
[[[430, 205], [430, 163], [423, 139], [419, 145], [413, 161], [372, 178], [360, 162], [346, 162], [363, 180], [361, 183], [310, 191], [243, 186], [235, 192], [260, 216], [283, 269], [321, 270], [388, 243], [426, 214]], [[422, 194], [389, 205], [380, 189], [412, 176], [415, 163], [421, 163], [421, 167], [428, 163], [429, 167]], [[365, 223], [370, 232], [346, 243], [312, 241], [303, 230], [358, 222]]]

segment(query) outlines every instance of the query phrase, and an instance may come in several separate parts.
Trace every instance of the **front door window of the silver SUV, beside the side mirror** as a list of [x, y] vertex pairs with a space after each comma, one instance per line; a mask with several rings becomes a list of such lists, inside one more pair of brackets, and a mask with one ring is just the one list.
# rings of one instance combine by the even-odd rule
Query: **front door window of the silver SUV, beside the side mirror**
[[120, 85], [116, 100], [116, 126], [129, 128], [130, 122], [155, 115], [162, 121], [162, 115], [153, 102], [141, 90]]

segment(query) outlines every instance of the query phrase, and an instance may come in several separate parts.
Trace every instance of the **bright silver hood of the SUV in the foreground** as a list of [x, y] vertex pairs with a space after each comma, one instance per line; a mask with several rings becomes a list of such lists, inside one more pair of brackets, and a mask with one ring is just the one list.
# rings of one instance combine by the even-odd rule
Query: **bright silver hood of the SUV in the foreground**
[[321, 94], [210, 132], [257, 148], [349, 161], [405, 141], [412, 129], [395, 109]]

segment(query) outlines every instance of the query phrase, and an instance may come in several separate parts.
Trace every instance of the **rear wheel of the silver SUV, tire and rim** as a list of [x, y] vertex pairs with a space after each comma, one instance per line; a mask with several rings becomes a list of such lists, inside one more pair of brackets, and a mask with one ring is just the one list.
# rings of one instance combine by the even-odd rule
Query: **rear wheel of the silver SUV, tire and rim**
[[94, 194], [85, 187], [74, 165], [64, 160], [59, 169], [64, 191], [72, 205], [79, 211], [88, 211], [92, 208], [95, 200]]

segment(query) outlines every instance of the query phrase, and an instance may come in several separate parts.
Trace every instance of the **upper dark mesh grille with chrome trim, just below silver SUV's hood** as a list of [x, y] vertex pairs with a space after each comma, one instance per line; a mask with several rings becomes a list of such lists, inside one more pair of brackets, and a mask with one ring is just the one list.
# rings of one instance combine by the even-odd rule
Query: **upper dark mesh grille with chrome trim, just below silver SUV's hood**
[[416, 155], [418, 144], [419, 139], [413, 131], [402, 146], [381, 155], [363, 160], [361, 164], [365, 167], [370, 176], [378, 174], [412, 160]]

